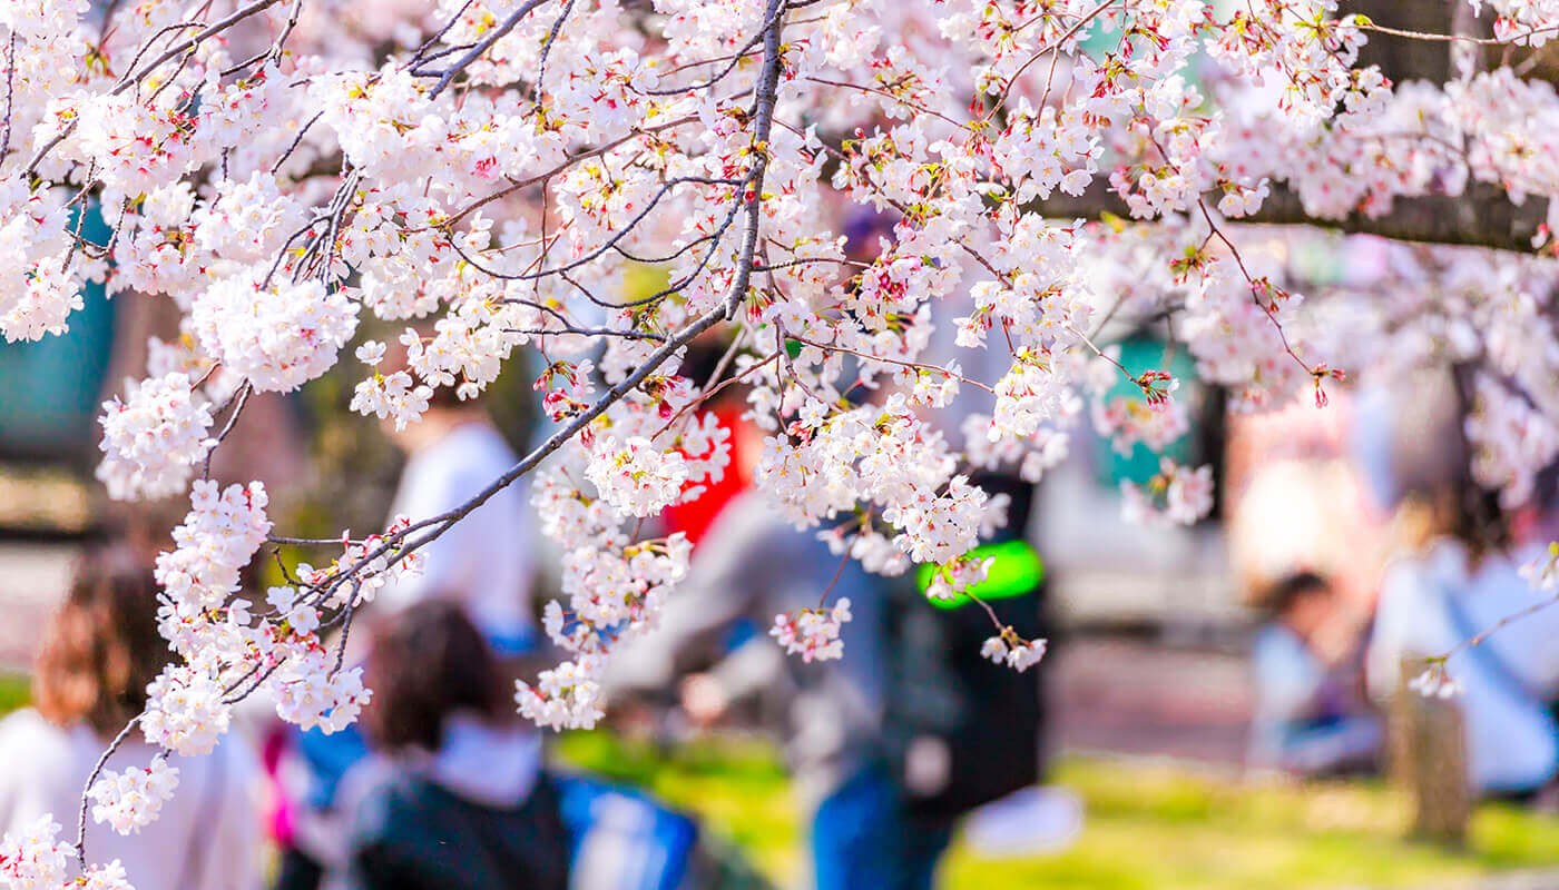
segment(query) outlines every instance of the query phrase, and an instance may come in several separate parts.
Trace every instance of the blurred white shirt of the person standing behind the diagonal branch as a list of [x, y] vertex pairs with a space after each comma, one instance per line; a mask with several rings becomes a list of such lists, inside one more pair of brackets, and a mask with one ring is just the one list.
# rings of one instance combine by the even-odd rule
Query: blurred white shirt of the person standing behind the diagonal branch
[[[519, 458], [490, 424], [460, 424], [407, 460], [390, 516], [419, 522], [447, 513], [516, 463]], [[427, 597], [447, 597], [461, 603], [490, 637], [510, 639], [535, 625], [532, 519], [522, 482], [496, 493], [418, 553], [424, 572], [385, 586], [379, 602], [399, 609]]]

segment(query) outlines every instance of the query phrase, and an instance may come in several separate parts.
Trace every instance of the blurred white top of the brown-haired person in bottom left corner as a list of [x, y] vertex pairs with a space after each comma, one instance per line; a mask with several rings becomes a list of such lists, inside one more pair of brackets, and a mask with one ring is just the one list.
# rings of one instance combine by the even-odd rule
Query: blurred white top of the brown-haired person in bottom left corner
[[[0, 720], [0, 831], [22, 831], [45, 814], [75, 842], [81, 787], [108, 748], [86, 726], [61, 729], [31, 709]], [[154, 748], [139, 734], [108, 768], [145, 767]], [[120, 860], [136, 890], [251, 890], [260, 884], [259, 764], [234, 734], [203, 758], [171, 754], [179, 784], [157, 821], [122, 835], [87, 815], [87, 864]], [[73, 864], [72, 864], [73, 865]]]

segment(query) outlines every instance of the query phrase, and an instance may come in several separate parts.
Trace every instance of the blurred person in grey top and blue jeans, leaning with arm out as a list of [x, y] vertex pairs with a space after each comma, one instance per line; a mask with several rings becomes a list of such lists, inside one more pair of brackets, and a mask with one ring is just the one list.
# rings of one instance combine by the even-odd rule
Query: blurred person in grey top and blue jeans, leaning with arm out
[[820, 599], [850, 600], [842, 659], [803, 664], [755, 636], [681, 683], [684, 709], [712, 723], [761, 692], [783, 714], [820, 890], [931, 887], [953, 821], [915, 818], [887, 762], [884, 585], [792, 528], [761, 494], [741, 494], [720, 511], [659, 627], [613, 656], [606, 687], [619, 695], [670, 687], [739, 620], [772, 627], [776, 614], [817, 608]]

